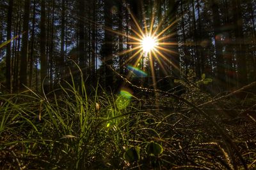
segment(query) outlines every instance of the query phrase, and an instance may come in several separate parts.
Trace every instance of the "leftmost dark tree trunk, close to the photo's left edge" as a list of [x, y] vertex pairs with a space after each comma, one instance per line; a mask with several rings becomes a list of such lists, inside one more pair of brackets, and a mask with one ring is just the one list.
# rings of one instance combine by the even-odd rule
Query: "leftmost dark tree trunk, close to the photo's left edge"
[[[7, 40], [12, 38], [12, 10], [13, 0], [9, 0], [7, 14]], [[11, 45], [12, 43], [8, 43], [8, 45], [6, 45], [6, 88], [12, 93]]]

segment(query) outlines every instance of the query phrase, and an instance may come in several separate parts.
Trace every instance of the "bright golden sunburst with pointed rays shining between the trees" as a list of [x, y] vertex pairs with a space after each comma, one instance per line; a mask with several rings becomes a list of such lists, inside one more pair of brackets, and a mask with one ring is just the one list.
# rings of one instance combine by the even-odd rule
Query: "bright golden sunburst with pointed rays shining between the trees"
[[[105, 29], [130, 39], [130, 41], [127, 42], [127, 45], [131, 45], [131, 48], [128, 48], [124, 52], [117, 53], [116, 55], [122, 56], [126, 53], [131, 54], [124, 62], [124, 65], [129, 64], [129, 67], [134, 67], [134, 69], [130, 69], [131, 72], [138, 69], [140, 69], [140, 71], [144, 71], [145, 68], [144, 66], [141, 66], [140, 62], [141, 60], [143, 61], [147, 59], [149, 61], [154, 88], [156, 88], [156, 73], [154, 72], [155, 62], [159, 64], [166, 76], [168, 76], [169, 72], [169, 69], [166, 69], [166, 66], [172, 66], [175, 69], [179, 69], [179, 66], [175, 66], [175, 62], [172, 62], [170, 59], [171, 55], [177, 54], [173, 50], [170, 50], [170, 46], [178, 45], [177, 42], [170, 41], [170, 38], [176, 34], [176, 32], [171, 32], [170, 30], [177, 20], [174, 20], [166, 27], [163, 27], [163, 22], [159, 22], [158, 24], [154, 23], [155, 18], [154, 15], [152, 15], [149, 26], [145, 17], [143, 17], [142, 27], [129, 8], [128, 11], [131, 14], [132, 22], [136, 25], [131, 29], [132, 35], [124, 34], [124, 32], [113, 31], [113, 29], [109, 28]], [[129, 73], [127, 78], [129, 78], [131, 74], [132, 73]]]

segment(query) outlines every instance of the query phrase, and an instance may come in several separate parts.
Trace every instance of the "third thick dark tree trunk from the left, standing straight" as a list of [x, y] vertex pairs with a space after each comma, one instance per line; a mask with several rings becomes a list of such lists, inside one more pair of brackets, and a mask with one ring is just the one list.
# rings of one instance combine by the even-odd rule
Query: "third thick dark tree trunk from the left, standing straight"
[[46, 60], [46, 54], [45, 54], [45, 0], [41, 0], [41, 21], [40, 21], [40, 80], [41, 85], [44, 89], [46, 88], [46, 81], [44, 82], [44, 79], [47, 76], [47, 60]]

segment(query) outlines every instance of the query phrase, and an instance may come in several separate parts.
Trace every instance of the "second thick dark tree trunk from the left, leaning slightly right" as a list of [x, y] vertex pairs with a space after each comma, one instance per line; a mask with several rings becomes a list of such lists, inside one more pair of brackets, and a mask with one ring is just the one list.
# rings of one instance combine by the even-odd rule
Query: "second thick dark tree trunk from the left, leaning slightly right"
[[24, 4], [24, 17], [22, 28], [22, 48], [20, 59], [20, 90], [24, 89], [24, 85], [27, 85], [27, 66], [28, 66], [28, 24], [29, 24], [29, 6], [30, 0], [26, 0]]

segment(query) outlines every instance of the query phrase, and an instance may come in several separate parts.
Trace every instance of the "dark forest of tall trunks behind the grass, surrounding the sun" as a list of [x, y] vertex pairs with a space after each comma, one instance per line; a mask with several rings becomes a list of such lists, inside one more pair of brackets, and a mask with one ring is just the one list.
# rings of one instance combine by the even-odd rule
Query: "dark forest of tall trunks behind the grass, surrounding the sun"
[[[141, 25], [154, 15], [154, 28], [163, 22], [159, 31], [174, 23], [163, 34], [178, 43], [165, 47], [176, 52], [166, 56], [179, 66], [176, 71], [166, 66], [172, 80], [186, 78], [192, 69], [198, 78], [212, 78], [216, 92], [236, 89], [256, 80], [255, 10], [253, 0], [3, 0], [0, 44], [14, 39], [0, 48], [1, 89], [40, 89], [43, 82], [54, 89], [68, 80], [68, 68], [77, 73], [70, 59], [89, 85], [98, 80], [104, 87], [113, 85], [118, 77], [107, 65], [127, 74], [131, 53], [118, 53], [132, 48], [130, 13]], [[157, 80], [167, 76], [157, 62], [154, 69]]]

